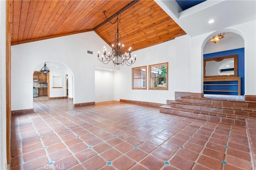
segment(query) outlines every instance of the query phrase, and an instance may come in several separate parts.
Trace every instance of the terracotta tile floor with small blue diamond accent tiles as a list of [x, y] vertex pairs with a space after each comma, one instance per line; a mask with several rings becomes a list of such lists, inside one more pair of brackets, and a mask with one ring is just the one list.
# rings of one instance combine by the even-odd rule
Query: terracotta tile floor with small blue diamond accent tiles
[[252, 169], [242, 126], [124, 102], [42, 100], [34, 110], [12, 117], [12, 170]]

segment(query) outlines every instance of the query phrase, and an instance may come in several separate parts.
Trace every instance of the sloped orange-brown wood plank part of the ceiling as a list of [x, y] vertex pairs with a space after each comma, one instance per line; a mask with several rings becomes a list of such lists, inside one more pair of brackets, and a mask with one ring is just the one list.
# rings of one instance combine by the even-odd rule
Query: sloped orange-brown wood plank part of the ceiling
[[[10, 0], [11, 44], [95, 31], [109, 45], [120, 42], [132, 51], [163, 43], [186, 33], [153, 0]], [[125, 49], [126, 51], [128, 51]]]

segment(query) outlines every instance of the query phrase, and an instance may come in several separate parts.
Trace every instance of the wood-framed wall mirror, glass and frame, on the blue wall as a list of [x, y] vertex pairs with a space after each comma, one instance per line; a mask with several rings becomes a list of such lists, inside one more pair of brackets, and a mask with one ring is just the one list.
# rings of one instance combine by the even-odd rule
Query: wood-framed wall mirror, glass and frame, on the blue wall
[[230, 55], [204, 59], [204, 78], [237, 77], [237, 57]]

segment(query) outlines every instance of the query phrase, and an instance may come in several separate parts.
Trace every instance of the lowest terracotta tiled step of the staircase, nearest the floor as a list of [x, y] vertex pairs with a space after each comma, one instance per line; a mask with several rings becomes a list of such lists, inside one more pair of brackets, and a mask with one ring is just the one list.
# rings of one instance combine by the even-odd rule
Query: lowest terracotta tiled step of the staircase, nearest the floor
[[173, 115], [181, 115], [186, 117], [193, 117], [197, 119], [218, 121], [218, 122], [229, 123], [233, 125], [242, 125], [242, 126], [246, 124], [245, 119], [248, 118], [247, 116], [241, 116], [241, 115], [231, 115], [231, 114], [217, 113], [212, 111], [201, 111], [196, 109], [194, 110], [194, 109], [172, 107], [170, 106], [170, 104], [160, 106], [160, 112], [173, 114]]

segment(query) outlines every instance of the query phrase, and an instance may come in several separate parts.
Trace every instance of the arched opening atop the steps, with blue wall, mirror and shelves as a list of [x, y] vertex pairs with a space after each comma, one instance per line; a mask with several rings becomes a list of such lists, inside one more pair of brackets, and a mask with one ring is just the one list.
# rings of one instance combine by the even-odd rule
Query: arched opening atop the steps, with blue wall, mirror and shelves
[[[211, 60], [211, 59], [218, 59], [219, 57], [228, 57], [232, 55], [238, 56], [238, 75], [236, 76], [238, 79], [240, 78], [240, 82], [238, 81], [214, 81], [210, 82], [210, 80], [206, 80], [205, 71], [207, 70], [206, 66], [203, 68], [204, 70], [204, 94], [226, 94], [226, 95], [244, 95], [245, 94], [245, 83], [244, 83], [244, 39], [241, 35], [234, 33], [234, 32], [221, 32], [225, 33], [224, 37], [220, 39], [220, 41], [213, 43], [208, 41], [210, 37], [219, 34], [220, 32], [215, 32], [211, 34], [206, 40], [205, 45], [203, 46], [203, 57], [204, 61]], [[234, 43], [235, 42], [235, 43]], [[221, 62], [219, 62], [221, 63]], [[223, 63], [222, 63], [223, 64]], [[216, 64], [217, 65], [217, 64]], [[209, 68], [209, 65], [207, 66]], [[230, 64], [225, 64], [226, 68], [211, 68], [211, 69], [218, 69], [218, 74], [211, 74], [216, 78], [224, 77], [234, 77], [232, 73], [228, 73], [228, 71], [234, 69], [234, 66], [230, 68]], [[223, 72], [220, 73], [220, 70], [223, 72], [226, 71], [226, 74]], [[223, 78], [222, 77], [222, 78]], [[219, 79], [221, 80], [221, 79]], [[209, 81], [209, 82], [208, 82]], [[219, 85], [221, 84], [221, 85]], [[236, 85], [237, 84], [237, 85]], [[240, 86], [240, 87], [239, 87]], [[239, 93], [240, 92], [240, 93]]]

